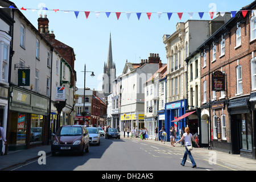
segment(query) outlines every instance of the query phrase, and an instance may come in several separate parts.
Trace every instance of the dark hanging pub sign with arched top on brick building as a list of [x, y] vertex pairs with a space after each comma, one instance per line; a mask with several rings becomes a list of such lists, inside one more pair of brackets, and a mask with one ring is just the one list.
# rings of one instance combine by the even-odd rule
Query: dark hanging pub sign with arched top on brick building
[[225, 91], [225, 74], [221, 71], [212, 73], [212, 91]]

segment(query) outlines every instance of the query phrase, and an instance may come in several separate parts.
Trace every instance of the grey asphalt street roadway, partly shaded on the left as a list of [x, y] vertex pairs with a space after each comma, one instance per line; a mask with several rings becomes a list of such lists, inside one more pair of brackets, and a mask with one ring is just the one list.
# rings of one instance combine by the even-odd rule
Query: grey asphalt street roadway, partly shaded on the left
[[38, 160], [22, 166], [11, 168], [11, 171], [230, 171], [232, 168], [213, 164], [203, 156], [193, 154], [197, 164], [187, 159], [185, 166], [180, 162], [185, 148], [180, 144], [175, 147], [166, 144], [150, 143], [138, 138], [105, 139], [101, 137], [100, 146], [90, 146], [83, 156], [77, 154], [47, 155], [46, 164]]

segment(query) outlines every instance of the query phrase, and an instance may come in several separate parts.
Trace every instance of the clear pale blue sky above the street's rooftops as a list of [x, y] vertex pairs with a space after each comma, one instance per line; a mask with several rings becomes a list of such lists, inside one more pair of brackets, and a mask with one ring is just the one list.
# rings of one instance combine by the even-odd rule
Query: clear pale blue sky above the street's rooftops
[[[76, 54], [75, 70], [77, 72], [77, 88], [84, 87], [84, 64], [86, 71], [94, 71], [95, 77], [86, 74], [86, 87], [102, 89], [104, 62], [108, 61], [109, 35], [112, 34], [113, 61], [117, 75], [121, 74], [126, 59], [131, 63], [139, 63], [148, 59], [150, 53], [159, 53], [162, 63], [167, 63], [163, 35], [172, 34], [177, 22], [190, 19], [187, 13], [193, 12], [192, 19], [200, 19], [198, 12], [205, 12], [202, 19], [209, 19], [209, 11], [238, 11], [251, 1], [173, 1], [173, 0], [14, 0], [18, 8], [59, 9], [63, 11], [32, 11], [22, 13], [37, 28], [39, 14], [47, 14], [49, 30], [53, 30], [55, 38], [74, 48]], [[76, 18], [73, 11], [91, 11], [88, 19], [80, 12]], [[94, 11], [100, 11], [98, 18]], [[105, 12], [113, 12], [109, 18]], [[119, 20], [114, 12], [122, 12]], [[131, 12], [130, 18], [126, 13]], [[158, 12], [163, 14], [158, 17]], [[142, 13], [138, 20], [136, 13]], [[152, 13], [148, 20], [146, 13]], [[170, 20], [166, 13], [173, 13]], [[183, 13], [181, 20], [177, 13]]]

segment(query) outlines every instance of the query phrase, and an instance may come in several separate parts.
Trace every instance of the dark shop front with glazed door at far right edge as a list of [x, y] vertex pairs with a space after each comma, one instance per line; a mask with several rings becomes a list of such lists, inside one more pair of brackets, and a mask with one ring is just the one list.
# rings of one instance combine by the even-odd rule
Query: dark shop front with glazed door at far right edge
[[255, 149], [253, 152], [253, 123], [249, 100], [250, 97], [242, 97], [229, 101], [232, 154], [255, 158]]

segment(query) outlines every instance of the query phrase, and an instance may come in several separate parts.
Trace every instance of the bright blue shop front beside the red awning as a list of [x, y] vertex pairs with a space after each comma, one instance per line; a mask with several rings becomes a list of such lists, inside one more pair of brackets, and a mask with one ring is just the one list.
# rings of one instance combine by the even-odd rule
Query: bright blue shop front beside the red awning
[[[185, 114], [185, 110], [187, 110], [187, 99], [169, 102], [165, 107], [165, 120], [164, 120], [164, 128], [167, 133], [167, 141], [170, 142], [170, 127], [174, 126], [176, 131], [176, 139], [180, 139], [179, 130], [181, 127], [186, 127], [186, 118], [180, 119], [179, 122], [172, 122], [175, 119], [181, 117], [181, 115]], [[159, 130], [160, 130], [159, 123]]]

